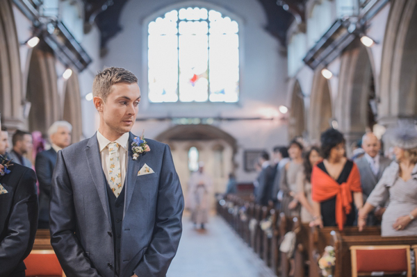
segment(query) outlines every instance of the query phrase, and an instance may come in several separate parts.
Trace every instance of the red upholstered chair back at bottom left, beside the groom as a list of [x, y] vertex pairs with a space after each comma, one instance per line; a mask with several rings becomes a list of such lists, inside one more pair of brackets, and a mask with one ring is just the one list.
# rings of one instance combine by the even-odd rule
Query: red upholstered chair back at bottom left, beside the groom
[[32, 250], [24, 260], [26, 276], [65, 277], [54, 250]]

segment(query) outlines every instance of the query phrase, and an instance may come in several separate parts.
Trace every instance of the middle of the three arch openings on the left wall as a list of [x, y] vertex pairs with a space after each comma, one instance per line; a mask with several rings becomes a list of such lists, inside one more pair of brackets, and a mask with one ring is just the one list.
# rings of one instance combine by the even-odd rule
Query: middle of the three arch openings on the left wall
[[28, 70], [26, 100], [31, 103], [28, 130], [47, 133], [60, 119], [60, 101], [56, 80], [56, 60], [51, 49], [42, 45], [32, 51]]

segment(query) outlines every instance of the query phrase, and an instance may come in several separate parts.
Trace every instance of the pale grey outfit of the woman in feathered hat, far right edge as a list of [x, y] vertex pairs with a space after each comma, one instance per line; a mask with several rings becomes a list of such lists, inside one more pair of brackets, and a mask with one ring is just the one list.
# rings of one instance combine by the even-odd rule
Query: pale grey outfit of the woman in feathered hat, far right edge
[[404, 181], [399, 176], [400, 165], [392, 162], [382, 174], [367, 202], [373, 206], [381, 205], [389, 199], [384, 215], [382, 215], [382, 236], [417, 235], [417, 219], [414, 219], [402, 230], [395, 230], [393, 224], [398, 217], [409, 215], [417, 208], [417, 165], [414, 167], [411, 178]]

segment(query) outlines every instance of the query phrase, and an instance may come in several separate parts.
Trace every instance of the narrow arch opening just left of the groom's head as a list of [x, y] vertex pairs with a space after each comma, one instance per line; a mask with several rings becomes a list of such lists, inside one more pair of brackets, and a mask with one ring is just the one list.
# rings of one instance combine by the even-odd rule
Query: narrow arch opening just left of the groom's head
[[64, 99], [63, 119], [72, 124], [72, 142], [79, 142], [83, 132], [81, 94], [78, 74], [74, 70], [66, 83]]

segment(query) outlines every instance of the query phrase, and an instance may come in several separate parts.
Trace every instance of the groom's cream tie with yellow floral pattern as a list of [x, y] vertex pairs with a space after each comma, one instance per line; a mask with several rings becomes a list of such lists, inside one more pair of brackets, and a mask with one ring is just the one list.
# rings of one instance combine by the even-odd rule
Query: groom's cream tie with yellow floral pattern
[[122, 192], [122, 175], [120, 173], [119, 144], [110, 142], [108, 147], [108, 185], [115, 196], [119, 196]]

